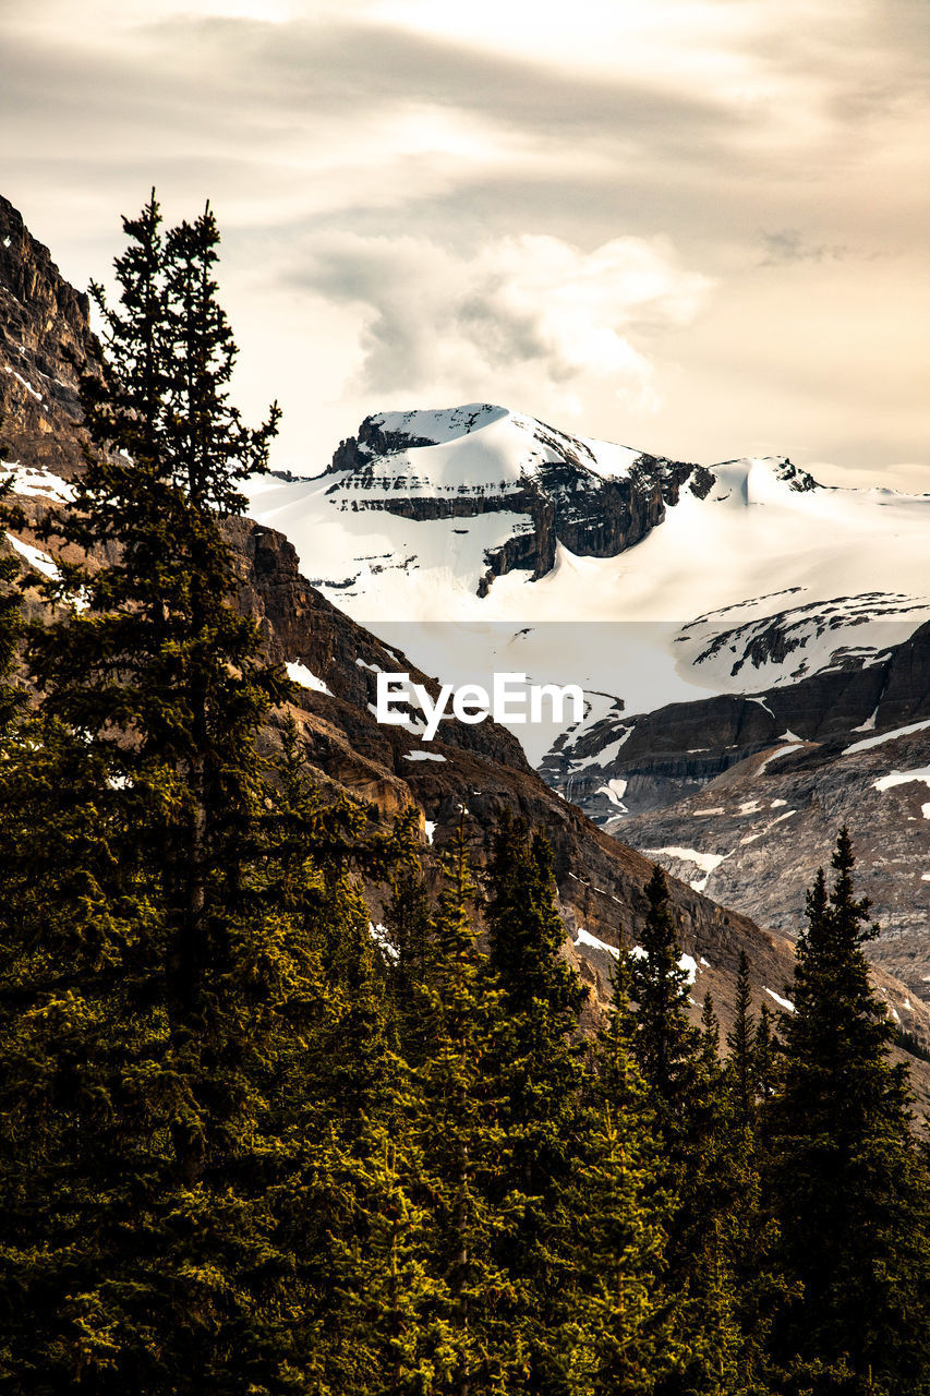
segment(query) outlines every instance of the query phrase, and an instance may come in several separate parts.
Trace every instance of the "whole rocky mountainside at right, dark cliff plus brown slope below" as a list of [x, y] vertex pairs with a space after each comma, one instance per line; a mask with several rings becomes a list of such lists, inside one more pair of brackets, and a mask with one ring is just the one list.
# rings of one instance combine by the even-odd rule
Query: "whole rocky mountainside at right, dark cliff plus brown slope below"
[[621, 712], [543, 775], [603, 828], [788, 935], [848, 825], [881, 926], [873, 962], [930, 1001], [930, 625], [878, 662], [761, 697]]

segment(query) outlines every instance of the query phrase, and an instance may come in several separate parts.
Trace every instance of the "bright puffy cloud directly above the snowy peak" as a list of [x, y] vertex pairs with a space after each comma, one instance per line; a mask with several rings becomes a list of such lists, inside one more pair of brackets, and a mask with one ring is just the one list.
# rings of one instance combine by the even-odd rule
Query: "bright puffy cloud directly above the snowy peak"
[[330, 236], [297, 279], [360, 314], [360, 391], [445, 389], [459, 401], [532, 383], [533, 398], [566, 412], [578, 409], [580, 380], [656, 406], [654, 363], [637, 339], [691, 321], [711, 288], [662, 237], [584, 251], [532, 233], [471, 253], [413, 236]]

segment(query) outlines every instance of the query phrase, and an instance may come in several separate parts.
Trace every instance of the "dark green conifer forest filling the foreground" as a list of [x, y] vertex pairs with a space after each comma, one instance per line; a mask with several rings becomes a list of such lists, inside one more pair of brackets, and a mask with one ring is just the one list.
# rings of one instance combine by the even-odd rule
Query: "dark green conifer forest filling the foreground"
[[462, 824], [430, 877], [416, 811], [309, 778], [230, 599], [278, 409], [230, 401], [215, 218], [124, 229], [66, 561], [40, 607], [0, 574], [0, 1392], [930, 1393], [848, 832], [793, 1011], [744, 956], [693, 1022], [656, 867], [582, 1030], [545, 831]]

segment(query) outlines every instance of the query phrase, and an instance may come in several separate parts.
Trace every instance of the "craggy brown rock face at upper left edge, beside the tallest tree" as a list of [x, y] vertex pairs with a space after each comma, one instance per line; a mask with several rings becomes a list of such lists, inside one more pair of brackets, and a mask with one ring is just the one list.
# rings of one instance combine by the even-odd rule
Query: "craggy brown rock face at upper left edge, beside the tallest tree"
[[99, 353], [88, 310], [0, 197], [0, 454], [64, 479], [82, 465], [78, 374]]

